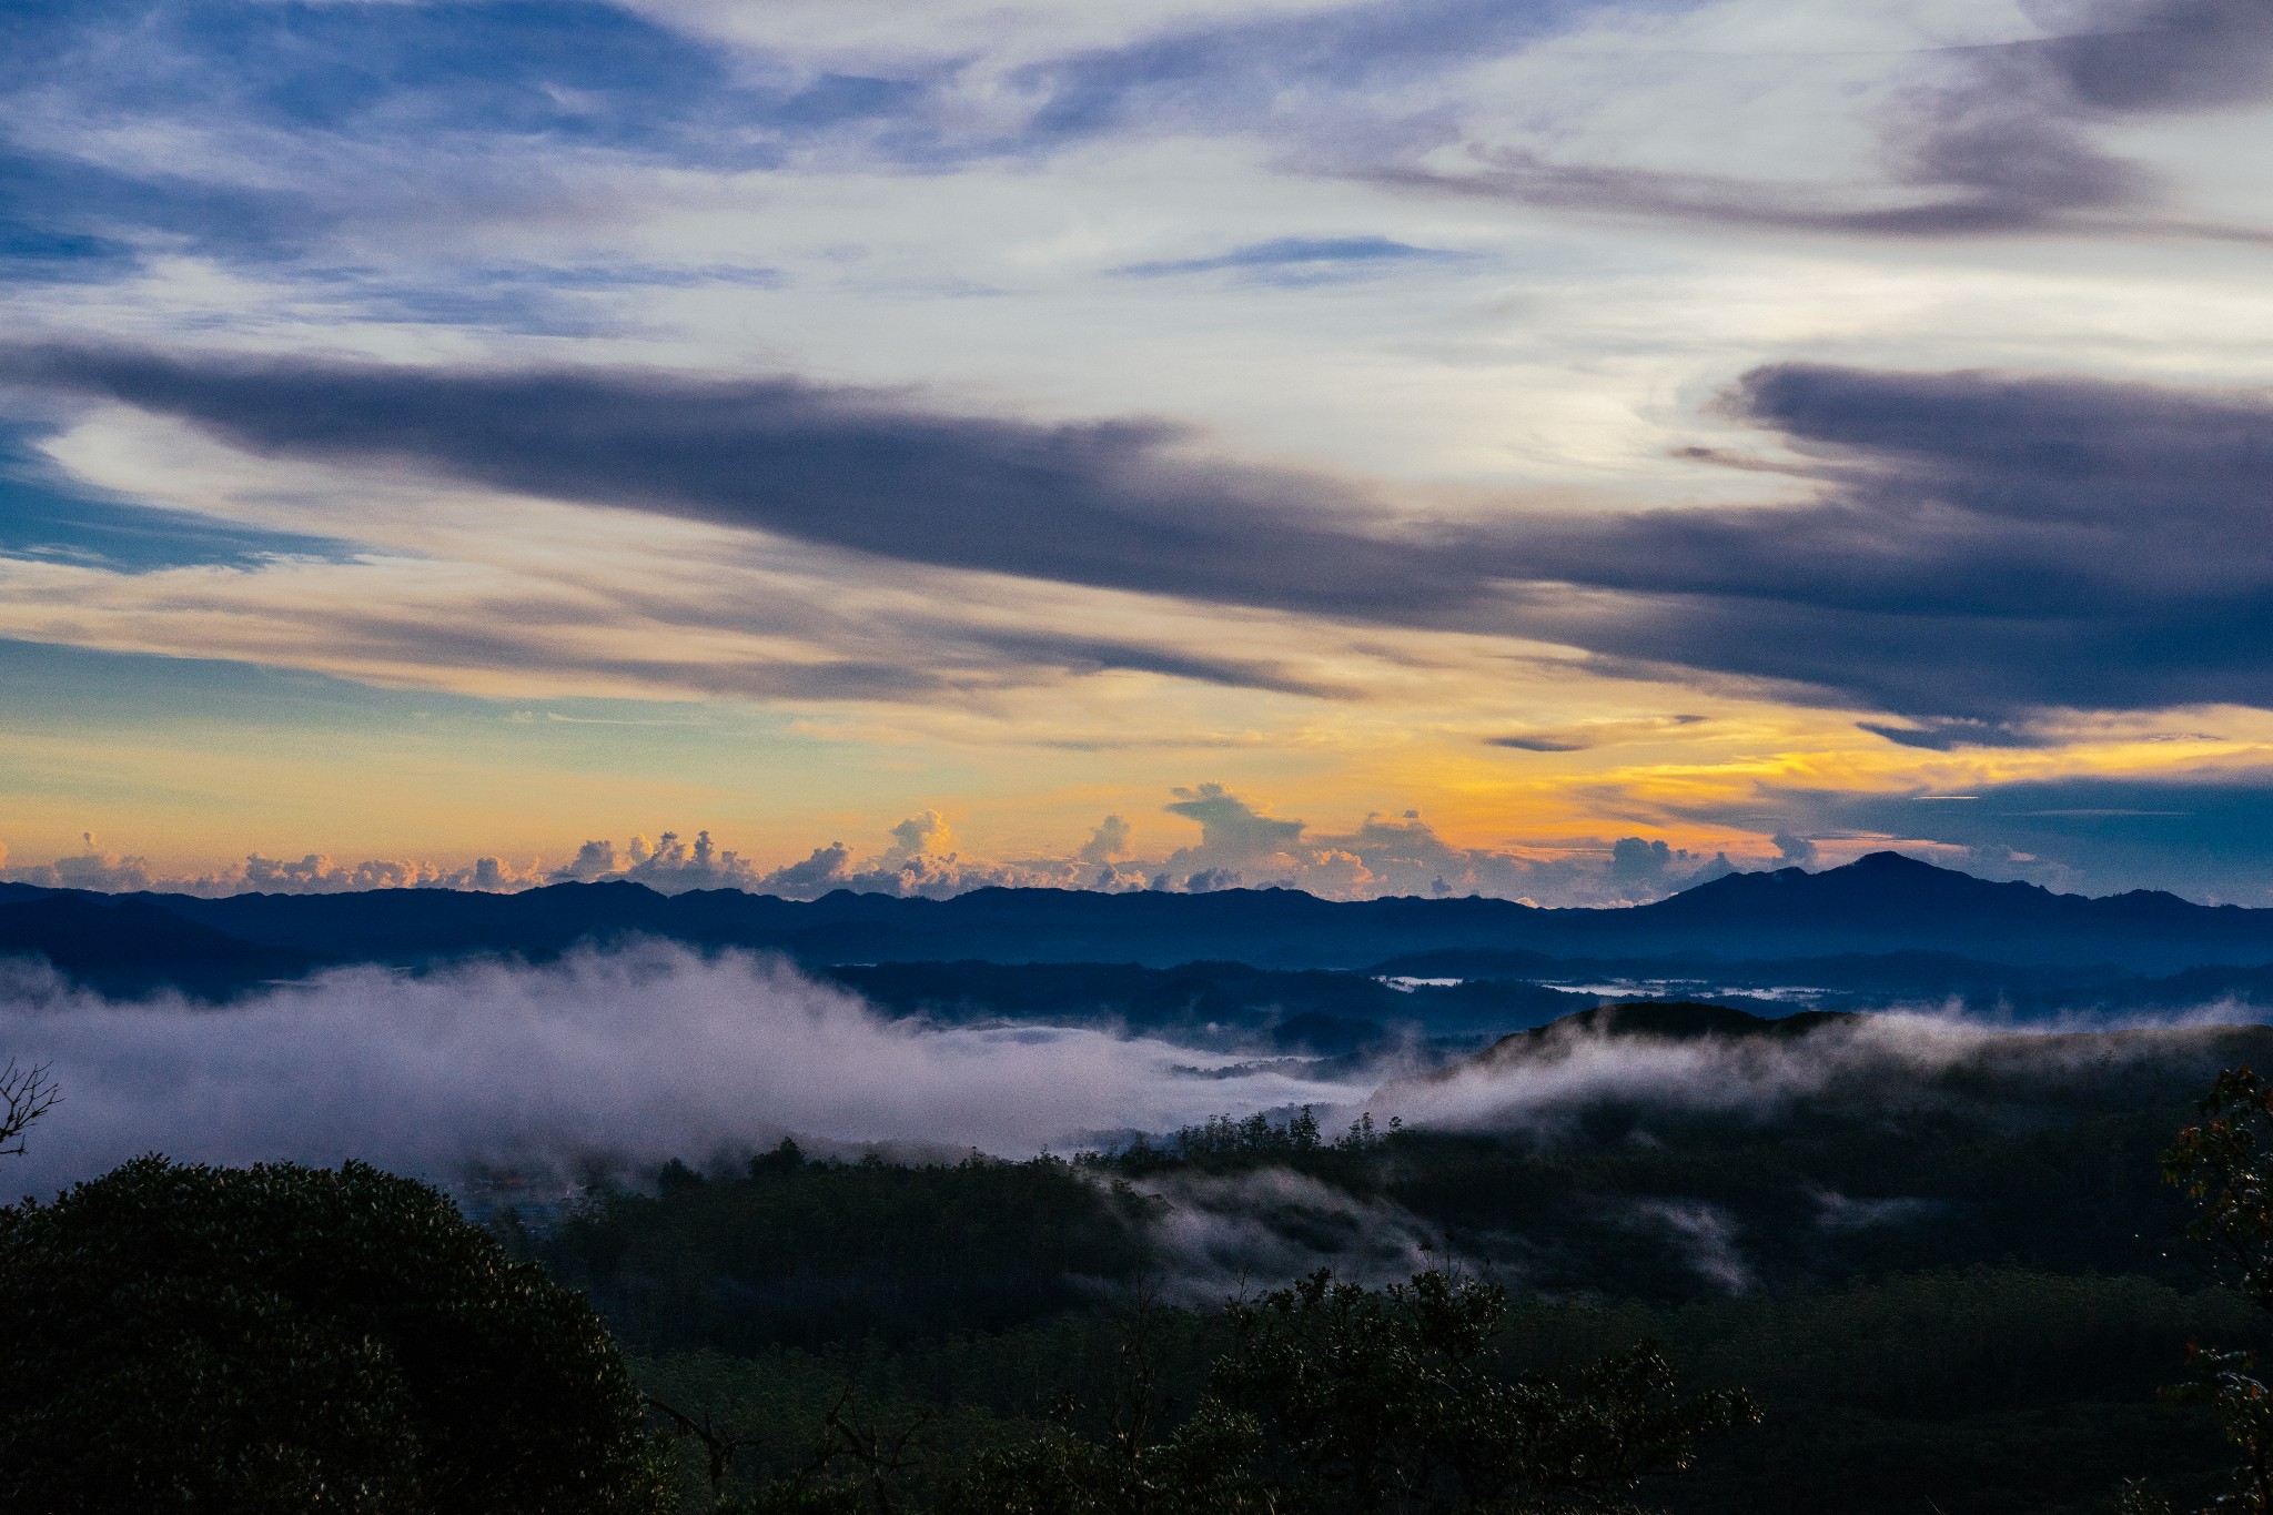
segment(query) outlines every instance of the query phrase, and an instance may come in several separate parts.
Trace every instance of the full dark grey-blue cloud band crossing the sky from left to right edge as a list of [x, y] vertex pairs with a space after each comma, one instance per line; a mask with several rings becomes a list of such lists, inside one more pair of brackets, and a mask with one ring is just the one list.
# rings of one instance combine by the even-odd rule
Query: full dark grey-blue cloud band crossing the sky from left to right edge
[[[1205, 459], [1159, 422], [946, 416], [789, 379], [68, 348], [0, 363], [264, 454], [902, 563], [1523, 634], [1589, 650], [1602, 672], [1764, 679], [1898, 715], [1871, 729], [1914, 747], [2041, 740], [2059, 709], [2273, 706], [2273, 402], [2259, 393], [1775, 366], [1725, 409], [1807, 457], [1809, 502], [1509, 509], [1393, 534], [1373, 495]], [[1339, 693], [1218, 650], [1043, 641], [991, 656]], [[1568, 738], [1512, 736], [1532, 750]]]

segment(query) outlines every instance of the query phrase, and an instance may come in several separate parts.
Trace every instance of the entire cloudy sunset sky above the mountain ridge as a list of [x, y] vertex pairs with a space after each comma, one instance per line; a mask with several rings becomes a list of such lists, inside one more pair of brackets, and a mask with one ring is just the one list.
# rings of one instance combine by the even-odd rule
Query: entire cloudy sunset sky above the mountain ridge
[[2264, 0], [18, 0], [0, 877], [2273, 904]]

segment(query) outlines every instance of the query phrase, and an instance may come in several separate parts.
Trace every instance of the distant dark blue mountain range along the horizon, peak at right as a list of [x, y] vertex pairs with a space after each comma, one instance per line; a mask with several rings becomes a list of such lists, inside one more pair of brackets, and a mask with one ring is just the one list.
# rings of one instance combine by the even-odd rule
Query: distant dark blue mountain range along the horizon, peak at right
[[[1689, 970], [1812, 961], [1896, 988], [1923, 974], [1962, 990], [1982, 965], [2175, 974], [2273, 963], [2273, 909], [2203, 906], [2134, 890], [2091, 899], [1991, 884], [1875, 852], [1846, 868], [1730, 874], [1639, 909], [1537, 909], [1512, 899], [1332, 902], [1298, 890], [1100, 895], [982, 888], [952, 899], [832, 893], [814, 902], [639, 884], [555, 884], [518, 895], [436, 888], [348, 895], [95, 895], [0, 886], [0, 954], [45, 956], [105, 993], [177, 986], [225, 997], [332, 963], [543, 961], [571, 947], [664, 938], [700, 949], [850, 963], [1196, 961], [1268, 970], [1371, 970], [1546, 979], [1557, 963]], [[1909, 968], [1898, 959], [1909, 956]], [[1909, 974], [1916, 970], [1916, 974]], [[1991, 979], [1996, 974], [1989, 974]], [[2087, 974], [2089, 977], [2089, 974]], [[2007, 986], [2009, 988], [2009, 986]], [[1937, 990], [1939, 993], [1939, 990]], [[2216, 993], [2216, 986], [2212, 986]]]

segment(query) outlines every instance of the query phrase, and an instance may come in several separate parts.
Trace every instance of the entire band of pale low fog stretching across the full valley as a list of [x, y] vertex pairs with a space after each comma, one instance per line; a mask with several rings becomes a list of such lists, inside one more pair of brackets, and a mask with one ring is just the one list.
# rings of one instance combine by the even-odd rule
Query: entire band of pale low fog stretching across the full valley
[[[0, 1167], [14, 1192], [55, 1190], [143, 1152], [366, 1158], [464, 1186], [477, 1170], [707, 1161], [784, 1133], [1027, 1156], [1298, 1104], [1318, 1106], [1330, 1133], [1359, 1108], [1523, 1129], [1605, 1097], [1766, 1115], [1857, 1074], [1932, 1074], [1968, 1058], [2082, 1072], [2132, 1056], [2105, 1038], [1884, 1013], [1800, 1040], [1557, 1036], [1441, 1074], [1350, 1072], [1102, 1029], [891, 1020], [775, 959], [664, 943], [539, 968], [350, 968], [225, 1008], [114, 1004], [45, 970], [5, 972], [0, 1061], [48, 1063], [64, 1095], [30, 1154]], [[2241, 1018], [2255, 1020], [2216, 1006], [2193, 1020]], [[2148, 1054], [2148, 1043], [2168, 1052], [2166, 1038], [2134, 1049]]]

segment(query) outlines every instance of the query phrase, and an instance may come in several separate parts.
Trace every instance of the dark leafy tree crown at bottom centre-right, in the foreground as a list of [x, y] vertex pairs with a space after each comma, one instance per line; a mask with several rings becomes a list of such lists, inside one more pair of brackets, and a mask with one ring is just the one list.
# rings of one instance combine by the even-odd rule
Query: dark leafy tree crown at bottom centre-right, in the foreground
[[1498, 1288], [1416, 1274], [1368, 1290], [1318, 1272], [1234, 1304], [1232, 1342], [1182, 1422], [1139, 1315], [1109, 1426], [1068, 1417], [986, 1454], [950, 1515], [1421, 1515], [1630, 1510], [1639, 1479], [1687, 1467], [1741, 1395], [1680, 1399], [1641, 1349], [1564, 1381], [1498, 1363]]

